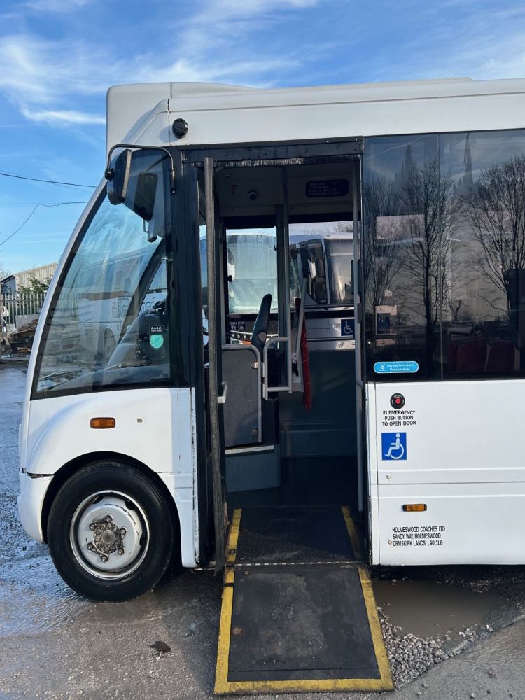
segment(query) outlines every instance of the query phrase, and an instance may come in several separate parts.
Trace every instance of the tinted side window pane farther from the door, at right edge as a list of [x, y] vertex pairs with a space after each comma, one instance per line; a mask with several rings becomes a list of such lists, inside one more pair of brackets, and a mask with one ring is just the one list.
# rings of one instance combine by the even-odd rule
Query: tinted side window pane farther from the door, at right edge
[[443, 279], [444, 372], [525, 370], [525, 132], [444, 134], [457, 208]]

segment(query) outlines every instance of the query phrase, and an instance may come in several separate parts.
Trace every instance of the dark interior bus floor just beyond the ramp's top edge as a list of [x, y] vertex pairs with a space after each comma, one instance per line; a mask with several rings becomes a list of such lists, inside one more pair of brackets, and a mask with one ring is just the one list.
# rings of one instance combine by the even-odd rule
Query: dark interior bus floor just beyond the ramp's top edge
[[281, 463], [281, 486], [228, 493], [228, 508], [347, 505], [357, 512], [355, 456], [304, 456]]

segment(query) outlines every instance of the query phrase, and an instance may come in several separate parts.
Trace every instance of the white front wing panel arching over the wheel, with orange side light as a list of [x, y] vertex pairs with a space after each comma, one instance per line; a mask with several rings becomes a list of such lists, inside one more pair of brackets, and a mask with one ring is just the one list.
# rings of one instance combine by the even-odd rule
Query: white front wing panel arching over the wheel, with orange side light
[[[116, 427], [93, 430], [90, 419], [111, 416]], [[159, 475], [181, 524], [183, 566], [195, 566], [197, 532], [195, 393], [190, 388], [98, 391], [31, 401], [20, 443], [20, 518], [42, 541], [41, 514], [53, 475], [73, 459], [97, 452], [129, 456]], [[96, 457], [95, 457], [96, 458]], [[29, 475], [34, 475], [32, 478]], [[38, 477], [36, 477], [38, 475]]]

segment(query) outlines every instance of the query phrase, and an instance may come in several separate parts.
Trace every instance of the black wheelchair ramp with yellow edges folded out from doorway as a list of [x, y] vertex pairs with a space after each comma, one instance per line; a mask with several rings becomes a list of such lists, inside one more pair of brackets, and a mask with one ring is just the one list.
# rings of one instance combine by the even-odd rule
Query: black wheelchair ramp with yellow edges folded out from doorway
[[348, 509], [236, 510], [216, 694], [393, 689]]

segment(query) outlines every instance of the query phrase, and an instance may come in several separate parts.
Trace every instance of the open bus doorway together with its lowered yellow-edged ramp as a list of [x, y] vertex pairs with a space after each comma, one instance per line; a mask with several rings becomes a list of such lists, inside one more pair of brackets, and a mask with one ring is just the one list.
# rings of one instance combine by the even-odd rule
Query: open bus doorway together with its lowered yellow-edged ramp
[[359, 155], [210, 161], [210, 423], [230, 519], [216, 692], [391, 688], [360, 517]]

